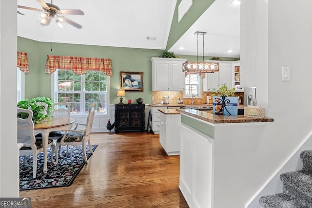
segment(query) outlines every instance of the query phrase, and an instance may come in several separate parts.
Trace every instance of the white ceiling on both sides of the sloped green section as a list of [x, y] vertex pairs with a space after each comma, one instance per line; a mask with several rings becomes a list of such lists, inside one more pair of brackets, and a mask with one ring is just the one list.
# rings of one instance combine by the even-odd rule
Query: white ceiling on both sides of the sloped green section
[[[17, 0], [18, 5], [42, 9], [37, 0]], [[51, 0], [45, 0], [51, 3]], [[215, 0], [208, 10], [169, 50], [175, 54], [196, 55], [196, 31], [204, 31], [205, 56], [239, 57], [239, 6], [231, 0]], [[43, 42], [165, 49], [176, 0], [53, 0], [60, 9], [80, 9], [80, 15], [64, 15], [82, 25], [67, 25], [60, 31], [52, 20], [41, 27], [36, 11], [18, 8], [18, 36]], [[148, 40], [147, 37], [155, 37]], [[202, 56], [202, 37], [198, 55]], [[200, 47], [199, 47], [200, 45]], [[179, 50], [184, 46], [185, 50]], [[227, 53], [232, 49], [234, 53]]]

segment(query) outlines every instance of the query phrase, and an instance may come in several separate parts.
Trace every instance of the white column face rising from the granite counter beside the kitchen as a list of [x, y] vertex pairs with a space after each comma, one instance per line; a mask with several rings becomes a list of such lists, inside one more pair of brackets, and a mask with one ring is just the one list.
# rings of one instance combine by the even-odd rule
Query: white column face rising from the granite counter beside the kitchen
[[257, 87], [257, 105], [266, 108], [268, 106], [268, 3], [264, 0], [242, 1], [241, 86]]

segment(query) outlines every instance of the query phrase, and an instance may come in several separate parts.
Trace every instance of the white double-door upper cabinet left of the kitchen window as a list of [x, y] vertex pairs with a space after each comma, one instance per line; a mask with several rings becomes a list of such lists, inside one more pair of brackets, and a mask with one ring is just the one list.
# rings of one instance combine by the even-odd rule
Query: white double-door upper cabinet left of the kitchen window
[[182, 64], [185, 58], [158, 58], [152, 59], [152, 90], [153, 91], [183, 91], [185, 73]]

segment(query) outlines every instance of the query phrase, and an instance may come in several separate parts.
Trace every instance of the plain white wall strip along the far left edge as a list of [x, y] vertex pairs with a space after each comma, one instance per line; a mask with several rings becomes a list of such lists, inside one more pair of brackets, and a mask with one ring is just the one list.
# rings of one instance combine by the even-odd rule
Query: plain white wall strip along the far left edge
[[0, 197], [19, 196], [17, 0], [0, 1]]

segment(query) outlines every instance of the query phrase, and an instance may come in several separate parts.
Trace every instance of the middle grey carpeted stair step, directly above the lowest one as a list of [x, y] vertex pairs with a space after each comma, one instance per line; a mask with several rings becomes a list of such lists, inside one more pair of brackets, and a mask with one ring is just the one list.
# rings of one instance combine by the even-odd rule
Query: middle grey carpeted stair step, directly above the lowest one
[[[292, 199], [304, 200], [312, 205], [312, 175], [304, 171], [285, 172], [280, 175], [283, 192]], [[311, 206], [312, 207], [312, 206]]]

